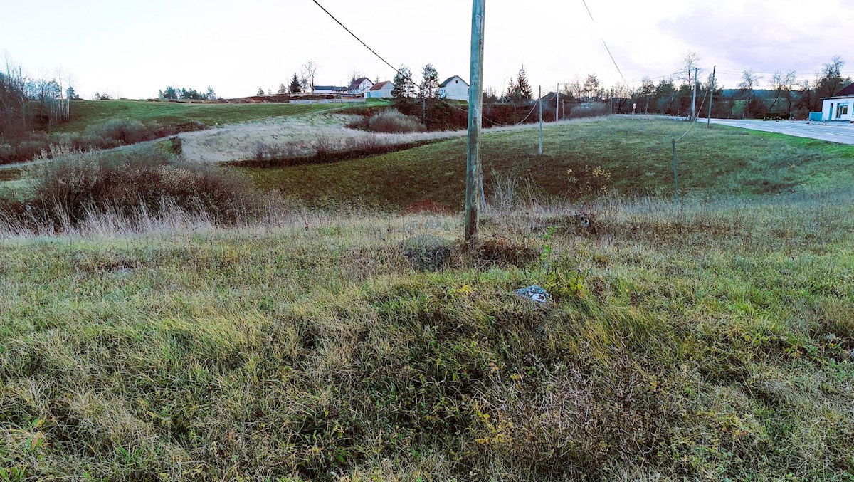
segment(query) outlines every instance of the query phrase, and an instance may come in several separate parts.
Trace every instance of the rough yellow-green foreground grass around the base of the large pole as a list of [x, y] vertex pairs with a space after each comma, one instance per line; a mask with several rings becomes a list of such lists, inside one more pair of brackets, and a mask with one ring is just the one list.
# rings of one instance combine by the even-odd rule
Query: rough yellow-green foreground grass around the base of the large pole
[[850, 200], [592, 209], [3, 239], [0, 474], [851, 479]]

